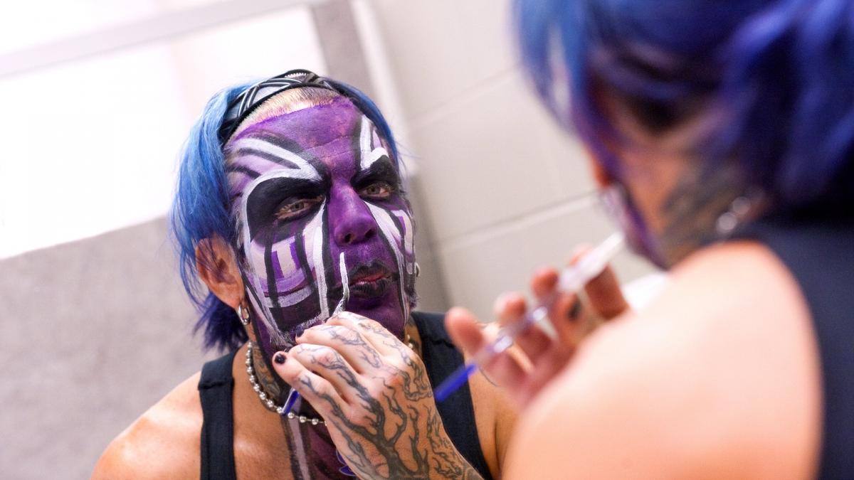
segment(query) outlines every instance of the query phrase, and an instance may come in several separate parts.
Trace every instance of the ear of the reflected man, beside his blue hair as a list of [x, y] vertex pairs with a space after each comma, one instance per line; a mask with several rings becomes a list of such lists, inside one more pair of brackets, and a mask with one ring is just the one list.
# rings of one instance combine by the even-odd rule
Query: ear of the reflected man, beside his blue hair
[[205, 238], [196, 245], [196, 270], [208, 289], [231, 308], [243, 301], [243, 278], [234, 250], [220, 237]]

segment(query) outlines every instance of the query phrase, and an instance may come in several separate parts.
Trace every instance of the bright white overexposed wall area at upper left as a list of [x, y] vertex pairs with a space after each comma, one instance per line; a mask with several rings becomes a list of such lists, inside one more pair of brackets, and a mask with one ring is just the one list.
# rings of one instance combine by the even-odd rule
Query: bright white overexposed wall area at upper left
[[[111, 9], [102, 3], [80, 3], [60, 32], [85, 36], [90, 29], [100, 39], [98, 32], [122, 22], [132, 22], [129, 30], [155, 27], [158, 15], [172, 12], [155, 0]], [[0, 7], [0, 26], [16, 18], [26, 25], [31, 10], [16, 8]], [[77, 21], [79, 11], [91, 16]], [[18, 30], [29, 37], [3, 33], [0, 55], [41, 41], [49, 46], [35, 55], [50, 56], [50, 42], [62, 44], [49, 28], [33, 29], [41, 38]], [[281, 73], [286, 65], [325, 73], [307, 6], [0, 78], [3, 108], [14, 113], [0, 116], [0, 231], [6, 233], [0, 259], [167, 214], [178, 151], [208, 97], [226, 85]]]

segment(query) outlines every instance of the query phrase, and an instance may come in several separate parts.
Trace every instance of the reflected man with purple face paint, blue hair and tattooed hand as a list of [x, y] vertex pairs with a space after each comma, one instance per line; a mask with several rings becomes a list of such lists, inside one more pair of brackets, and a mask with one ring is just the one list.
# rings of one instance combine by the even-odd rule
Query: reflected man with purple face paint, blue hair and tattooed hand
[[[173, 211], [208, 362], [110, 445], [95, 477], [497, 477], [515, 413], [416, 303], [394, 138], [349, 85], [291, 71], [221, 92]], [[294, 395], [298, 392], [299, 395]], [[200, 441], [201, 439], [201, 441]]]

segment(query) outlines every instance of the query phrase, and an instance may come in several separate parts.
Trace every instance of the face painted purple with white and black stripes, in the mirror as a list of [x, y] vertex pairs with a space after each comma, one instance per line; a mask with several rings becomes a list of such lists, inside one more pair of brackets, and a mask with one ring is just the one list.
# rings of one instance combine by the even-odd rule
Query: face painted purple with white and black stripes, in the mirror
[[414, 295], [412, 213], [376, 127], [344, 98], [260, 121], [226, 148], [240, 265], [267, 355], [346, 308], [398, 337]]

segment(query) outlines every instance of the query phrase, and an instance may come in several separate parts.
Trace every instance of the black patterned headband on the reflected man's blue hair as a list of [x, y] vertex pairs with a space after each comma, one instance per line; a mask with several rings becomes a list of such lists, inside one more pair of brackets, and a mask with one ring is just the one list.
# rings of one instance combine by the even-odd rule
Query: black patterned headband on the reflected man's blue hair
[[222, 125], [219, 126], [219, 144], [225, 145], [225, 142], [237, 130], [240, 122], [268, 98], [283, 91], [301, 87], [324, 88], [346, 96], [345, 92], [337, 89], [335, 85], [330, 84], [327, 79], [317, 73], [302, 69], [289, 70], [272, 79], [266, 79], [250, 86], [228, 104], [228, 108], [225, 108]]

